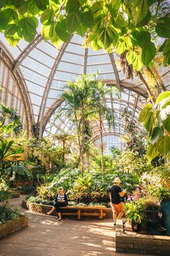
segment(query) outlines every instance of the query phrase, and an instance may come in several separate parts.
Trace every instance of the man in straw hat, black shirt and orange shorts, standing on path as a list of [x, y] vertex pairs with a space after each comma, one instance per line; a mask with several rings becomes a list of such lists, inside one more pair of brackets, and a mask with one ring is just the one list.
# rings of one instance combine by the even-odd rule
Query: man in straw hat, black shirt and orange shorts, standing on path
[[124, 215], [124, 203], [121, 197], [124, 197], [126, 189], [122, 191], [119, 186], [121, 183], [119, 178], [114, 179], [114, 185], [110, 187], [110, 197], [111, 197], [111, 209], [113, 211], [114, 226], [116, 226], [116, 219], [122, 218]]

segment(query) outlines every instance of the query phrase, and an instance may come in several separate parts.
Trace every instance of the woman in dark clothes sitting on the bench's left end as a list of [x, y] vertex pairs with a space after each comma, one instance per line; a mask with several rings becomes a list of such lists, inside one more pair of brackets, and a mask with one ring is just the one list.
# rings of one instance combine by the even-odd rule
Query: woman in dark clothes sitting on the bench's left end
[[47, 215], [51, 215], [52, 212], [56, 209], [56, 213], [58, 215], [57, 220], [61, 220], [60, 207], [64, 207], [68, 205], [67, 194], [64, 193], [64, 189], [59, 187], [58, 194], [56, 194], [55, 205], [49, 212], [46, 212]]

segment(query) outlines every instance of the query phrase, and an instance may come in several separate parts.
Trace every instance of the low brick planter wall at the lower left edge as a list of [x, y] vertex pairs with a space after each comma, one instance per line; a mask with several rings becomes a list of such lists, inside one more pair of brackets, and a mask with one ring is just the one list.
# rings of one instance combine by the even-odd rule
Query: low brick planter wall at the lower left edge
[[12, 234], [15, 231], [24, 228], [28, 223], [28, 215], [22, 215], [15, 220], [8, 220], [6, 223], [0, 225], [0, 239]]

